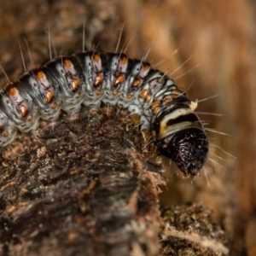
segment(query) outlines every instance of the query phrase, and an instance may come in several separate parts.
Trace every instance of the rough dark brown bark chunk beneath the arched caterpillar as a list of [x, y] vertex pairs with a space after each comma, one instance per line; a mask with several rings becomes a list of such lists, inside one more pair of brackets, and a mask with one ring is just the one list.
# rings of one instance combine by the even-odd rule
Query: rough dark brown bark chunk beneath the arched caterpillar
[[1, 148], [2, 254], [156, 255], [161, 166], [127, 112], [101, 110]]

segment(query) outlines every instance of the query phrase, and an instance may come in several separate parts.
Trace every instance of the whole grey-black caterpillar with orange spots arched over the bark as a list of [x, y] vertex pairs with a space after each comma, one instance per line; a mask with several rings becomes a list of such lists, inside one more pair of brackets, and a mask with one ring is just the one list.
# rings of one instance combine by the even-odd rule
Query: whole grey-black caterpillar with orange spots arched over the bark
[[77, 113], [83, 103], [101, 102], [139, 114], [142, 131], [151, 131], [158, 154], [175, 161], [194, 177], [207, 160], [208, 141], [186, 93], [148, 62], [125, 54], [88, 51], [60, 56], [32, 69], [0, 96], [0, 146], [17, 129], [34, 131], [39, 119], [55, 120], [60, 109]]

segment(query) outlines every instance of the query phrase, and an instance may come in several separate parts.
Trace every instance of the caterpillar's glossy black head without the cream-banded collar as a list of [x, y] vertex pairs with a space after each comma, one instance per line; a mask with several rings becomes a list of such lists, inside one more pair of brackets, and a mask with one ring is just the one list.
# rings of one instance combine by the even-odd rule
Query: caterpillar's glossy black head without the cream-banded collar
[[186, 177], [195, 177], [205, 164], [208, 140], [199, 128], [177, 131], [157, 142], [158, 151], [173, 160]]

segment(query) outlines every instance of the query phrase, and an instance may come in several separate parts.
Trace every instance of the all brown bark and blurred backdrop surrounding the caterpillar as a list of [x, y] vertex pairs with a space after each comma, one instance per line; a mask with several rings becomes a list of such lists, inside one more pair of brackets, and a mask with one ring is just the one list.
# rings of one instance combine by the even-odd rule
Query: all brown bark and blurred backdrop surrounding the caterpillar
[[42, 121], [0, 149], [0, 255], [255, 255], [254, 9], [249, 0], [1, 1], [10, 80], [24, 72], [18, 42], [34, 66], [23, 38], [40, 67], [49, 31], [53, 55], [71, 55], [83, 49], [84, 20], [85, 44], [98, 51], [114, 51], [124, 26], [119, 51], [142, 59], [150, 49], [147, 61], [189, 98], [210, 98], [198, 112], [210, 113], [201, 119], [211, 160], [192, 182], [154, 163], [125, 110]]

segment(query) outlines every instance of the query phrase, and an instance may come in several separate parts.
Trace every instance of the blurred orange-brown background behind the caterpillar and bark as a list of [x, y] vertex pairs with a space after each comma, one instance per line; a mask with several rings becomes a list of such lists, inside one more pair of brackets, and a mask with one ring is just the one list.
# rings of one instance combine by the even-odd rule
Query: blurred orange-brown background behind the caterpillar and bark
[[[256, 4], [251, 0], [1, 0], [0, 62], [9, 79], [32, 61], [83, 49], [119, 50], [147, 61], [198, 99], [211, 150], [201, 177], [166, 161], [162, 205], [204, 202], [230, 236], [231, 255], [256, 255]], [[5, 83], [3, 73], [0, 82]], [[207, 99], [209, 98], [209, 99]], [[204, 101], [203, 101], [204, 100]], [[206, 114], [207, 113], [207, 114]], [[237, 159], [236, 159], [237, 158]]]

